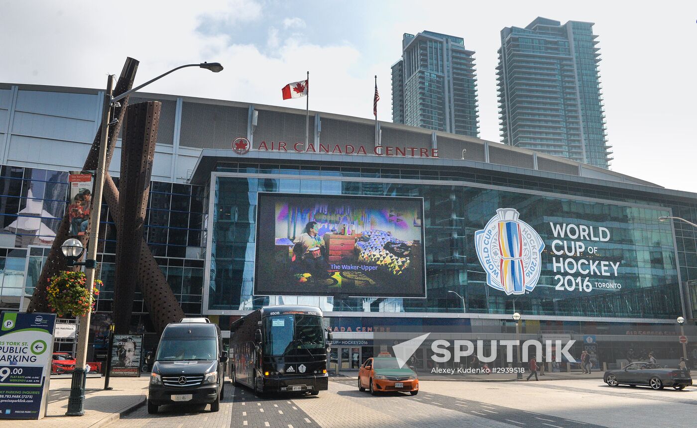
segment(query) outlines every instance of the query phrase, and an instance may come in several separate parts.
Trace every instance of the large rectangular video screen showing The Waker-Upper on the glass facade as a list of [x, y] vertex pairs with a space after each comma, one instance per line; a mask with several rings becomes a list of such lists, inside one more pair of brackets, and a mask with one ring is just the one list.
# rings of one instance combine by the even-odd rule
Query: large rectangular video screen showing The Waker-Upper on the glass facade
[[416, 197], [259, 192], [255, 295], [426, 297]]

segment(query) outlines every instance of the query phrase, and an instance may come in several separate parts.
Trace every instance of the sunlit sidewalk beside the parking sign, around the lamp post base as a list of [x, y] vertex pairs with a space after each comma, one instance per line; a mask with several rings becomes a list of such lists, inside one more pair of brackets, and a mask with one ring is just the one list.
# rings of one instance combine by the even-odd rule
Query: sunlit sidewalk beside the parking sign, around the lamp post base
[[112, 378], [105, 391], [104, 378], [88, 378], [85, 387], [85, 414], [66, 416], [70, 379], [51, 379], [48, 410], [40, 420], [6, 420], [3, 428], [96, 428], [118, 420], [121, 413], [144, 404], [148, 395], [149, 376], [139, 378]]

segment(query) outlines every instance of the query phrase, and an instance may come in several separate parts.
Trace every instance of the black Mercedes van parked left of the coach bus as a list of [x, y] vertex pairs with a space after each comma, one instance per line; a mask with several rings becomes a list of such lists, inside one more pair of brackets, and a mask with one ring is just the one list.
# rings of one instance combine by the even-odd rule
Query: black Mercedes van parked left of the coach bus
[[[183, 321], [188, 321], [184, 319]], [[168, 324], [160, 337], [148, 387], [148, 413], [164, 404], [208, 404], [220, 409], [227, 352], [215, 323]]]

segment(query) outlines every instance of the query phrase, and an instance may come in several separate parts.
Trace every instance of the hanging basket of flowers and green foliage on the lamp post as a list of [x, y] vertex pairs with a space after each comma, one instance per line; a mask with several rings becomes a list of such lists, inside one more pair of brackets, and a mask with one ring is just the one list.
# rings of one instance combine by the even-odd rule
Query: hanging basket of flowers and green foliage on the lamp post
[[52, 277], [46, 289], [51, 312], [58, 316], [83, 316], [93, 311], [102, 282], [95, 280], [93, 296], [90, 296], [86, 281], [82, 272], [63, 271]]

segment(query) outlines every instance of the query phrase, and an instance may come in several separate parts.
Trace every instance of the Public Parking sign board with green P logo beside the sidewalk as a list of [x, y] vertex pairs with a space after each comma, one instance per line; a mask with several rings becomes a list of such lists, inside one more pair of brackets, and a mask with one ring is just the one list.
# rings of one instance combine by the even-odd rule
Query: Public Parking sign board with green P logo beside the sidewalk
[[55, 323], [55, 314], [3, 312], [0, 420], [44, 417]]

